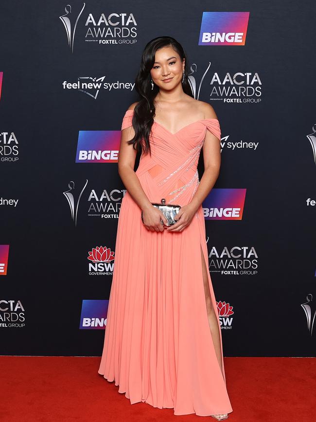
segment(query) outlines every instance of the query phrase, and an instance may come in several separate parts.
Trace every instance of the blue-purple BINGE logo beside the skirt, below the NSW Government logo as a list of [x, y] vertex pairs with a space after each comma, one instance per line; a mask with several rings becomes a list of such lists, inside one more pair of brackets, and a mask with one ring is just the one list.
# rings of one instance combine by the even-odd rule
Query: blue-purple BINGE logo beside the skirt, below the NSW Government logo
[[106, 326], [108, 300], [83, 300], [80, 330], [104, 330]]

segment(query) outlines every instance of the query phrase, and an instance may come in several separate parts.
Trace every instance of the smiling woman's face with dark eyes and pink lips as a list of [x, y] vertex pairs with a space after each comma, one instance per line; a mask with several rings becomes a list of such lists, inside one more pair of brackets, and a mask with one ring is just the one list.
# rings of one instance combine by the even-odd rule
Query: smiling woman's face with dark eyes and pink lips
[[181, 83], [184, 72], [184, 62], [172, 47], [162, 47], [157, 50], [155, 63], [150, 71], [154, 84], [164, 90], [175, 88]]

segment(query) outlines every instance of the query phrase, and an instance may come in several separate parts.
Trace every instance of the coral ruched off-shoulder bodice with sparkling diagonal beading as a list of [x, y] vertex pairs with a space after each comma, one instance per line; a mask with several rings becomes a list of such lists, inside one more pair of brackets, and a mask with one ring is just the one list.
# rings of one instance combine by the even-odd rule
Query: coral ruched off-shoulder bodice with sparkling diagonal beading
[[[126, 111], [122, 129], [132, 125], [133, 114], [133, 110]], [[139, 177], [144, 176], [152, 202], [166, 198], [167, 203], [184, 205], [191, 201], [199, 184], [197, 163], [207, 130], [220, 142], [221, 130], [217, 119], [198, 120], [176, 133], [154, 121], [149, 137], [151, 155], [141, 154], [136, 171]], [[159, 171], [152, 173], [154, 169]]]

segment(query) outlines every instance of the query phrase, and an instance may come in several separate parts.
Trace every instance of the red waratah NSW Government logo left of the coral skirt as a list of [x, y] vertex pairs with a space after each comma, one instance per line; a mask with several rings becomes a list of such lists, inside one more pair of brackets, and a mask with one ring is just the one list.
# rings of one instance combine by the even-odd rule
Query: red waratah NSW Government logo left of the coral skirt
[[96, 246], [88, 252], [89, 275], [112, 275], [114, 252], [106, 246]]

